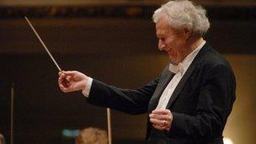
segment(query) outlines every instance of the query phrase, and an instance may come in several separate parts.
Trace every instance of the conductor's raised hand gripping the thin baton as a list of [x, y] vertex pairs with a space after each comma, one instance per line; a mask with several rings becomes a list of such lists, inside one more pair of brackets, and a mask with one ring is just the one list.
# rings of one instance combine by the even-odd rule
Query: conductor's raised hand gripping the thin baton
[[59, 87], [64, 93], [82, 90], [86, 87], [88, 76], [77, 71], [61, 71], [59, 74]]

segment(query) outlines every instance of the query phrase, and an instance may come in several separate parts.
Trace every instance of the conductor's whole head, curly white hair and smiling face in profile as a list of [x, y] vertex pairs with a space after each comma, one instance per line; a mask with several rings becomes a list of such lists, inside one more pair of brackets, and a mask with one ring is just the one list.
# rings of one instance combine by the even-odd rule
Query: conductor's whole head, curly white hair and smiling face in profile
[[210, 28], [205, 13], [204, 8], [187, 0], [170, 1], [154, 12], [158, 48], [166, 51], [174, 64], [193, 51], [195, 42]]

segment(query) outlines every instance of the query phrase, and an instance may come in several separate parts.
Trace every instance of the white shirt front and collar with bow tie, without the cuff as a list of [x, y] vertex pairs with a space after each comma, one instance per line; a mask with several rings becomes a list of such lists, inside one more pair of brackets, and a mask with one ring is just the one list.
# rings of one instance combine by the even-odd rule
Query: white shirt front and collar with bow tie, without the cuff
[[[171, 98], [174, 89], [179, 84], [179, 81], [184, 76], [184, 73], [189, 68], [191, 62], [194, 60], [195, 56], [198, 54], [200, 49], [205, 45], [205, 40], [194, 50], [192, 51], [188, 56], [184, 58], [183, 61], [179, 63], [179, 67], [182, 67], [182, 71], [177, 72], [172, 80], [168, 83], [168, 86], [163, 90], [163, 93], [158, 101], [157, 108], [156, 109], [166, 109], [166, 106], [168, 104], [169, 99]], [[170, 68], [173, 67], [173, 64], [170, 64]], [[176, 66], [178, 67], [178, 66]]]

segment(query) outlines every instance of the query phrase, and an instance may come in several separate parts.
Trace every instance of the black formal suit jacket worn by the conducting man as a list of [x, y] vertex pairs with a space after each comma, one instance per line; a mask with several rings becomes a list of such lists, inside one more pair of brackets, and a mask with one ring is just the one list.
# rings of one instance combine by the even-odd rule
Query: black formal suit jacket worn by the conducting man
[[[93, 79], [88, 102], [129, 114], [151, 113], [173, 77], [165, 67], [155, 81], [136, 89], [109, 86]], [[207, 43], [192, 61], [168, 101], [173, 114], [170, 131], [157, 131], [147, 122], [148, 143], [221, 144], [232, 111], [236, 82], [225, 58]]]

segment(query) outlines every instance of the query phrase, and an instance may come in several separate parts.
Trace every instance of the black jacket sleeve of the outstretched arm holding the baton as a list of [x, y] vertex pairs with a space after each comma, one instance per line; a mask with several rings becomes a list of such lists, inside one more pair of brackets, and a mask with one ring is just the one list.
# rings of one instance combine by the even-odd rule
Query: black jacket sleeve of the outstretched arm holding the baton
[[133, 115], [146, 113], [148, 102], [157, 87], [157, 83], [158, 78], [139, 89], [131, 90], [109, 86], [93, 79], [88, 103]]

